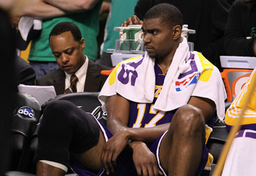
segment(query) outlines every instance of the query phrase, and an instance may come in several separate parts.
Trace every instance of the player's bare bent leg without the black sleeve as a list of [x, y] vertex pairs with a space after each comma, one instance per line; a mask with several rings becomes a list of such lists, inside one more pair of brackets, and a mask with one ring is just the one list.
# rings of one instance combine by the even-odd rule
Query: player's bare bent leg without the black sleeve
[[168, 175], [194, 175], [205, 142], [205, 121], [198, 108], [178, 109], [160, 145], [160, 165]]

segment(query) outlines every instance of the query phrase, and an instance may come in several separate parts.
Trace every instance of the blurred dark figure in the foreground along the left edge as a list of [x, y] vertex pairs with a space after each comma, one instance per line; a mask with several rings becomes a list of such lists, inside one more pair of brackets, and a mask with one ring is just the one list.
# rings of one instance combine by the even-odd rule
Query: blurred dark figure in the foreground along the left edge
[[10, 162], [11, 117], [14, 112], [17, 88], [14, 71], [16, 38], [11, 26], [11, 16], [17, 9], [23, 8], [26, 2], [28, 1], [0, 0], [0, 59], [2, 61], [0, 96], [3, 101], [0, 106], [0, 175], [5, 175]]

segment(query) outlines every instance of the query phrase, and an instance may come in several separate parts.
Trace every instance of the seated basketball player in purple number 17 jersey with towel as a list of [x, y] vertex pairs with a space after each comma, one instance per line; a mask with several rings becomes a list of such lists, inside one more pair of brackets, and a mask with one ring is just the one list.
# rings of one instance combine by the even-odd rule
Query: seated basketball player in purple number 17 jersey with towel
[[[221, 74], [181, 37], [182, 15], [145, 15], [145, 55], [120, 62], [99, 95], [107, 127], [71, 102], [47, 105], [35, 155], [38, 175], [209, 174], [206, 136], [224, 117]], [[207, 129], [207, 130], [206, 130]]]

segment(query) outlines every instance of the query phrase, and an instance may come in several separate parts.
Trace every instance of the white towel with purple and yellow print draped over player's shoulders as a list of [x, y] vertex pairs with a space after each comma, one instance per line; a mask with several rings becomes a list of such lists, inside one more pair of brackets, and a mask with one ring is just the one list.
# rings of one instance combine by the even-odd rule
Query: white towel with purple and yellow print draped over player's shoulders
[[[151, 103], [154, 99], [154, 59], [145, 55], [120, 62], [111, 72], [99, 94], [103, 111], [108, 96], [120, 94], [133, 102]], [[160, 96], [154, 108], [171, 111], [186, 105], [190, 96], [215, 102], [218, 117], [224, 118], [224, 100], [227, 98], [221, 74], [211, 62], [198, 52], [189, 52], [183, 38], [166, 74]]]

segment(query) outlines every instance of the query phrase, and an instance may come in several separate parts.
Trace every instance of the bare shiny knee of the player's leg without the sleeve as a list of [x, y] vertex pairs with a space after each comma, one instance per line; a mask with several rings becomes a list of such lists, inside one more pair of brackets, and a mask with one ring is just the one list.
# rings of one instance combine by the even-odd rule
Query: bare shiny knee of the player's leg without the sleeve
[[202, 111], [193, 105], [184, 105], [178, 109], [177, 123], [179, 129], [190, 133], [203, 131], [205, 128], [205, 120]]

